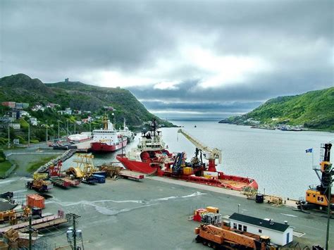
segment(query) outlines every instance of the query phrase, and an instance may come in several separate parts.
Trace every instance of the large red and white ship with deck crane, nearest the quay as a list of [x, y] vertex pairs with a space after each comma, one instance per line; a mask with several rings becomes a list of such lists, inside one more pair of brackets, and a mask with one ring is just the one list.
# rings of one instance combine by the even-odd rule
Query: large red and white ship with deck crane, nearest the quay
[[[151, 125], [151, 130], [142, 133], [142, 138], [136, 148], [131, 149], [127, 154], [118, 154], [116, 158], [128, 170], [140, 173], [155, 173], [162, 177], [173, 177], [238, 191], [248, 188], [258, 189], [258, 184], [254, 179], [225, 175], [216, 170], [215, 160], [221, 161], [220, 150], [210, 149], [183, 130], [178, 130], [178, 132], [196, 146], [195, 156], [189, 163], [186, 162], [185, 152], [171, 154], [166, 149], [161, 132], [156, 130], [155, 120]], [[202, 156], [209, 161], [208, 164], [202, 162]]]

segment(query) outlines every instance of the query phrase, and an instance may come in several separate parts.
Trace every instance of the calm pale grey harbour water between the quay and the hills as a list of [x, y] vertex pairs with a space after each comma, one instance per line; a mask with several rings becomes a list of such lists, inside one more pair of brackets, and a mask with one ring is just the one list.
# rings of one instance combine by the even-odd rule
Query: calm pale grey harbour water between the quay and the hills
[[[290, 132], [258, 130], [245, 126], [219, 124], [218, 120], [171, 120], [211, 148], [221, 149], [223, 159], [218, 170], [228, 175], [252, 177], [259, 183], [259, 190], [266, 194], [298, 199], [304, 196], [309, 185], [318, 184], [312, 170], [312, 154], [305, 149], [314, 149], [314, 164], [320, 158], [320, 144], [330, 142], [330, 132]], [[194, 127], [196, 125], [197, 127]], [[178, 128], [161, 128], [163, 139], [170, 151], [185, 151], [190, 160], [194, 146], [178, 134]], [[137, 144], [129, 144], [125, 151]], [[118, 153], [120, 154], [120, 153]], [[332, 149], [332, 157], [334, 157]], [[94, 163], [116, 161], [116, 154], [97, 154]], [[70, 161], [65, 166], [72, 165]]]

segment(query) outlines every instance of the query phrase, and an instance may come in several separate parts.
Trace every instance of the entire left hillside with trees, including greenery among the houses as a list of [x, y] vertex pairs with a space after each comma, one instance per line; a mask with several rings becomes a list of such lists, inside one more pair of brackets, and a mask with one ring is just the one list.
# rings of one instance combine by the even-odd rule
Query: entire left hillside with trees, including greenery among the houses
[[[15, 101], [29, 104], [27, 111], [32, 118], [37, 118], [38, 125], [30, 125], [31, 142], [45, 141], [46, 127], [49, 139], [69, 133], [94, 130], [101, 127], [101, 117], [109, 115], [116, 122], [116, 127], [123, 125], [124, 118], [132, 131], [140, 131], [152, 120], [158, 120], [159, 125], [171, 127], [173, 124], [161, 120], [149, 113], [127, 89], [119, 87], [97, 87], [82, 82], [56, 82], [44, 84], [41, 80], [32, 79], [24, 74], [11, 75], [0, 79], [0, 103]], [[58, 104], [54, 108], [34, 110], [32, 107]], [[106, 108], [109, 107], [109, 108]], [[66, 108], [73, 110], [72, 114], [63, 113]], [[3, 117], [11, 108], [0, 105], [0, 117]], [[80, 124], [82, 119], [93, 118], [92, 123]], [[16, 120], [20, 123], [20, 130], [10, 128], [10, 139], [20, 139], [20, 143], [27, 142], [28, 121], [25, 116]], [[0, 144], [6, 144], [7, 125], [0, 128]]]

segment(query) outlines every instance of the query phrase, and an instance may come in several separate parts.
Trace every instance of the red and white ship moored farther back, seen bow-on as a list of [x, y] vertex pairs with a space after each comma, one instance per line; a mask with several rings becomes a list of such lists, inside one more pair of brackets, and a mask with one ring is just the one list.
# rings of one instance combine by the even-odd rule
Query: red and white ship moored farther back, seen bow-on
[[103, 128], [93, 130], [93, 142], [90, 144], [92, 151], [112, 152], [122, 149], [128, 142], [127, 137], [123, 137], [113, 127], [113, 123], [104, 117]]

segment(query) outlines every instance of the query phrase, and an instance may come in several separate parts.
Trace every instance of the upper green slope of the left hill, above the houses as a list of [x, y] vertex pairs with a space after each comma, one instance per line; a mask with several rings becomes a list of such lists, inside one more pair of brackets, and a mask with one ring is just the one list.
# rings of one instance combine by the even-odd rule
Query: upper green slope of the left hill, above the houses
[[104, 113], [104, 106], [112, 106], [116, 115], [116, 123], [127, 123], [140, 126], [144, 122], [156, 118], [159, 124], [171, 126], [171, 123], [152, 115], [127, 89], [97, 87], [82, 82], [56, 82], [44, 84], [38, 79], [31, 79], [24, 74], [11, 75], [0, 79], [0, 102], [16, 101], [61, 105], [61, 109], [70, 107], [92, 113]]

